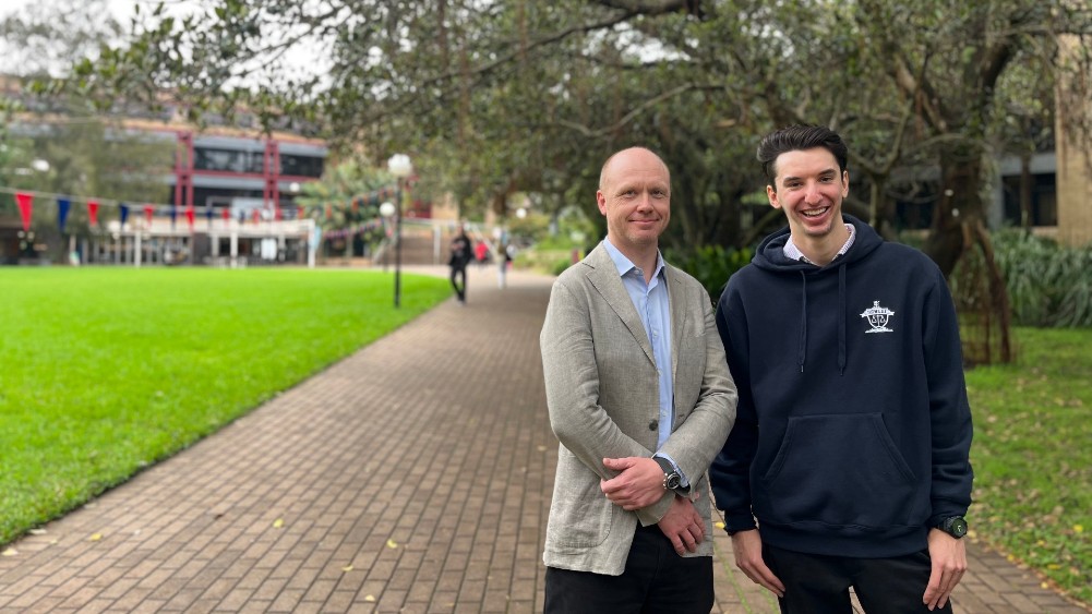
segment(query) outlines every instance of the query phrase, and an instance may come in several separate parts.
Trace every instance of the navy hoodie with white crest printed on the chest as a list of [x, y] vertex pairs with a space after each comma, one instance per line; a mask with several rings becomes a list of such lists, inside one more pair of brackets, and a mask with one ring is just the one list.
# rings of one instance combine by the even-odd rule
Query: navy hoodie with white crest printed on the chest
[[774, 546], [888, 557], [971, 503], [971, 410], [940, 270], [859, 220], [826, 267], [784, 256], [788, 228], [732, 275], [716, 324], [739, 388], [709, 470], [728, 531]]

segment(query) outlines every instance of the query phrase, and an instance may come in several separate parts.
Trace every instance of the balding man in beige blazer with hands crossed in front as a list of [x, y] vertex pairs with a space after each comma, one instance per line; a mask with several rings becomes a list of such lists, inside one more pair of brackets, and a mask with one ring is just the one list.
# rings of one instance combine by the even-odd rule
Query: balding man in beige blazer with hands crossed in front
[[550, 293], [541, 344], [560, 441], [546, 612], [708, 613], [705, 471], [735, 420], [712, 302], [666, 264], [670, 175], [646, 149], [603, 166], [607, 237]]

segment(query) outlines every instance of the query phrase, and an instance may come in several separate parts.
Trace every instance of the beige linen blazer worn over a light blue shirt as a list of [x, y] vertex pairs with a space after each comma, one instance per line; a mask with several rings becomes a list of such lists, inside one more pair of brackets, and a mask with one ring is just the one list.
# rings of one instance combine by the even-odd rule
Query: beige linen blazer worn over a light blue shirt
[[[705, 288], [665, 267], [672, 317], [675, 420], [663, 447], [700, 493], [695, 507], [709, 539], [692, 556], [712, 556], [705, 471], [736, 416], [736, 387]], [[618, 269], [601, 243], [554, 283], [539, 336], [550, 426], [560, 441], [543, 560], [549, 567], [621, 575], [640, 521], [654, 524], [670, 493], [633, 511], [614, 505], [600, 480], [604, 458], [651, 457], [660, 417], [652, 344]]]

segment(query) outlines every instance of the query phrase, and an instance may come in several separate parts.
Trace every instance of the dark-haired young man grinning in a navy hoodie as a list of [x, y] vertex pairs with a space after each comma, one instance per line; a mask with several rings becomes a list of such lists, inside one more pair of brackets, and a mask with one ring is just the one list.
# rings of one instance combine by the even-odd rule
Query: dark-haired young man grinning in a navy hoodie
[[971, 411], [945, 278], [842, 214], [836, 133], [784, 128], [758, 157], [788, 227], [716, 310], [739, 404], [710, 481], [736, 564], [784, 613], [850, 613], [850, 587], [869, 614], [951, 612]]

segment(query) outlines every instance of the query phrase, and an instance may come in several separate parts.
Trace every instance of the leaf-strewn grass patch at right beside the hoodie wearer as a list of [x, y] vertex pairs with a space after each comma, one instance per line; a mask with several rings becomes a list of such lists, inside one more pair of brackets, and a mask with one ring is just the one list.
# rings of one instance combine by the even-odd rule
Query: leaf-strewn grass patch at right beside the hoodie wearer
[[1018, 363], [968, 371], [975, 536], [1092, 603], [1092, 329], [1018, 329]]

